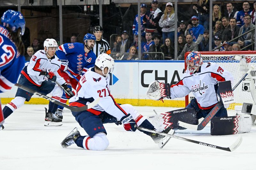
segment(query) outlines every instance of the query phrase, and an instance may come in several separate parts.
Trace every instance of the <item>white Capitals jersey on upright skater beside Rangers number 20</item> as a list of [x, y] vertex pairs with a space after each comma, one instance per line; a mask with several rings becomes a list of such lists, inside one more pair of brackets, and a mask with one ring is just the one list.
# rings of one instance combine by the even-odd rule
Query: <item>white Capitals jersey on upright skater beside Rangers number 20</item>
[[[56, 75], [56, 81], [61, 85], [66, 83], [60, 73], [60, 60], [54, 55], [51, 59], [47, 58], [44, 50], [37, 51], [30, 59], [27, 66], [21, 71], [32, 84], [41, 86], [47, 78], [40, 75], [41, 71], [52, 71]], [[40, 75], [40, 76], [39, 76]]]

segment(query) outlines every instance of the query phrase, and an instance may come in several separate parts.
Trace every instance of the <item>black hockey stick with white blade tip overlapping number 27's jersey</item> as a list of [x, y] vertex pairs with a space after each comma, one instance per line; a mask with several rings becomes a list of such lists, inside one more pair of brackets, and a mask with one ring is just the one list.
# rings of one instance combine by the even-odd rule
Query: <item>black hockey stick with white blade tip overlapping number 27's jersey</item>
[[74, 112], [81, 112], [81, 111], [90, 109], [90, 108], [94, 107], [95, 105], [97, 105], [100, 101], [100, 98], [98, 98], [98, 99], [94, 100], [92, 103], [90, 103], [89, 105], [86, 105], [86, 106], [83, 106], [83, 107], [71, 107], [71, 106], [65, 105], [65, 104], [63, 104], [63, 103], [61, 103], [57, 100], [54, 100], [51, 97], [45, 96], [44, 94], [42, 94], [40, 92], [36, 92], [36, 91], [34, 91], [34, 90], [24, 86], [24, 85], [20, 85], [20, 84], [17, 84], [17, 83], [15, 85], [18, 86], [19, 88], [21, 88], [22, 90], [25, 90], [25, 91], [33, 93], [33, 94], [37, 94], [38, 96], [40, 96], [40, 97], [42, 97], [46, 100], [49, 100], [52, 103], [55, 103], [55, 104], [60, 105], [62, 107], [66, 107], [69, 110], [74, 111]]

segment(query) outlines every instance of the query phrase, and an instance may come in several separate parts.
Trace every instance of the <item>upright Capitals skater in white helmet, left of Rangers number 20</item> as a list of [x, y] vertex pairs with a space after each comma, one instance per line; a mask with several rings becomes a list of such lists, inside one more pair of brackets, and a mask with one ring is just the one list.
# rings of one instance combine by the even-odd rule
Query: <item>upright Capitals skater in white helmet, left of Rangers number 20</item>
[[[52, 98], [61, 101], [63, 93], [62, 88], [56, 85], [57, 81], [64, 89], [72, 93], [71, 89], [67, 87], [66, 81], [60, 74], [60, 60], [54, 55], [58, 48], [58, 44], [54, 39], [46, 39], [44, 41], [44, 50], [37, 51], [30, 59], [27, 66], [23, 68], [20, 73], [19, 84], [41, 92], [44, 95], [51, 94]], [[49, 81], [46, 81], [46, 80]], [[18, 88], [15, 98], [8, 103], [4, 109], [4, 118], [7, 118], [13, 111], [21, 107], [25, 101], [29, 101], [33, 93], [27, 92]], [[66, 102], [62, 102], [66, 103]], [[62, 121], [54, 115], [58, 105], [50, 102], [49, 109], [45, 110], [45, 126], [61, 126]]]

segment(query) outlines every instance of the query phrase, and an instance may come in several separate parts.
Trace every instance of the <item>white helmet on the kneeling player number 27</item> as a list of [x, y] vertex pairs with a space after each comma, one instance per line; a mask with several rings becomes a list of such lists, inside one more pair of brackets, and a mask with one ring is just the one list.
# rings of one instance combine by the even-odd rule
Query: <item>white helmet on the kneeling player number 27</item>
[[[106, 53], [100, 54], [95, 60], [95, 65], [102, 70], [103, 75], [106, 77], [108, 76], [109, 72], [110, 73], [113, 72], [114, 64], [115, 64], [114, 59]], [[108, 73], [104, 74], [104, 69], [106, 67], [108, 67]]]

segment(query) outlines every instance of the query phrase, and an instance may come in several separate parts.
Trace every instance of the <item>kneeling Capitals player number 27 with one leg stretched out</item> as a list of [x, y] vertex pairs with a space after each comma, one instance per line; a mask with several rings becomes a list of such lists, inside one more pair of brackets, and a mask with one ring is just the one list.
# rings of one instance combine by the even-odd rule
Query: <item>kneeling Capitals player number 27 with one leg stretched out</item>
[[[82, 112], [72, 111], [79, 125], [84, 128], [88, 136], [81, 136], [77, 128], [61, 142], [63, 148], [76, 143], [77, 146], [87, 150], [105, 150], [108, 147], [107, 131], [104, 123], [122, 122], [124, 129], [135, 131], [136, 127], [155, 129], [154, 126], [142, 115], [140, 115], [132, 105], [118, 105], [110, 94], [109, 72], [114, 70], [114, 59], [108, 54], [100, 54], [95, 67], [90, 68], [80, 79], [76, 92], [77, 95], [69, 100], [70, 106], [82, 107], [100, 97], [99, 103], [88, 110]], [[162, 148], [170, 139], [156, 133], [143, 133], [152, 137]], [[164, 133], [173, 134], [174, 130], [167, 128]]]

